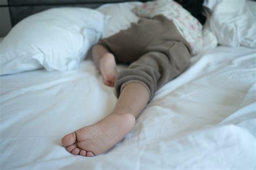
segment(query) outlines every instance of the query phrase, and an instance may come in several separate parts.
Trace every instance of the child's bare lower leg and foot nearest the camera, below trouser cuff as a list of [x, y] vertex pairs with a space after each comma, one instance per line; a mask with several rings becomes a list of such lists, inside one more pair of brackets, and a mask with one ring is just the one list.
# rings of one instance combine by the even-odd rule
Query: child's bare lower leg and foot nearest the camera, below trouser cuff
[[63, 146], [74, 155], [93, 157], [104, 153], [132, 130], [135, 119], [145, 108], [149, 97], [144, 85], [135, 82], [127, 84], [110, 115], [67, 134], [62, 139]]

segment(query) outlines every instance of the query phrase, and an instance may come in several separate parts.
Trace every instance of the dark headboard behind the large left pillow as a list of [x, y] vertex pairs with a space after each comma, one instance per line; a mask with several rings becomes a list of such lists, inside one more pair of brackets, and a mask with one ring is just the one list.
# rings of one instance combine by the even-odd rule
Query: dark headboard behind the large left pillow
[[82, 6], [97, 8], [105, 3], [120, 3], [147, 0], [0, 0], [0, 37], [5, 36], [12, 26], [34, 13], [59, 6]]

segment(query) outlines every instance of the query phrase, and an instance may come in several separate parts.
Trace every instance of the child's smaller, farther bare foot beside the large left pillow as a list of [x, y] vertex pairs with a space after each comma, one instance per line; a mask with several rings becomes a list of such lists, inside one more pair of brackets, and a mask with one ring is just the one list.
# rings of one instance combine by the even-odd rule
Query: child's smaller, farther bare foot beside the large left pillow
[[114, 60], [114, 55], [111, 53], [106, 53], [99, 61], [99, 65], [104, 83], [107, 86], [113, 87], [117, 78], [116, 60]]

